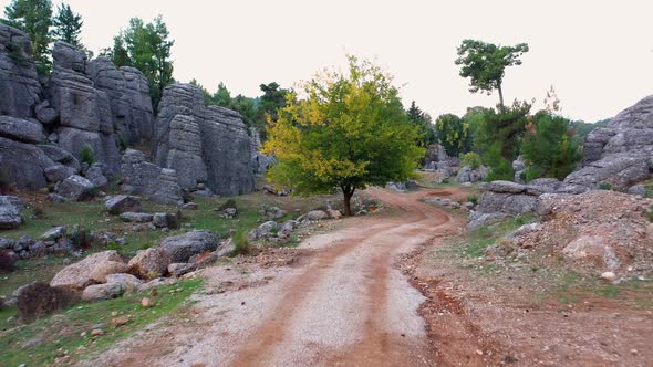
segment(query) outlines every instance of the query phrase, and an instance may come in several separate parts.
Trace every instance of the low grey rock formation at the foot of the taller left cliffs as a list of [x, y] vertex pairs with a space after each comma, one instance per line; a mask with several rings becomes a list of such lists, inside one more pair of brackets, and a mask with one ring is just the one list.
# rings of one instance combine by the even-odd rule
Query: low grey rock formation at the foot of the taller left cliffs
[[183, 205], [182, 188], [173, 169], [148, 162], [142, 151], [127, 149], [122, 158], [122, 191], [162, 203]]

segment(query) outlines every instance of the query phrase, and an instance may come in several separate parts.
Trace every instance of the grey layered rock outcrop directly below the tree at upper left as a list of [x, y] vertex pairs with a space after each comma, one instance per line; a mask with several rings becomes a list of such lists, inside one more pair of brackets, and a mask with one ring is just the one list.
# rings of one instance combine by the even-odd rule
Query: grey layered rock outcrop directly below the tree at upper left
[[126, 144], [149, 140], [154, 134], [154, 114], [147, 78], [137, 69], [116, 69], [100, 56], [86, 66], [95, 87], [108, 96], [111, 119], [116, 134]]

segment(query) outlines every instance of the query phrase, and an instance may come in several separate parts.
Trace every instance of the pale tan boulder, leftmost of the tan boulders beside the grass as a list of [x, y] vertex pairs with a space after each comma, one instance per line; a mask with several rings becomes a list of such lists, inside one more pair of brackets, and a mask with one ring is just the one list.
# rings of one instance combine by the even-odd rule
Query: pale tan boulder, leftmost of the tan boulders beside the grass
[[95, 268], [108, 261], [123, 262], [123, 259], [114, 250], [91, 254], [84, 260], [62, 269], [56, 275], [54, 275], [50, 285], [53, 287], [81, 292], [86, 286], [95, 283], [92, 277]]

